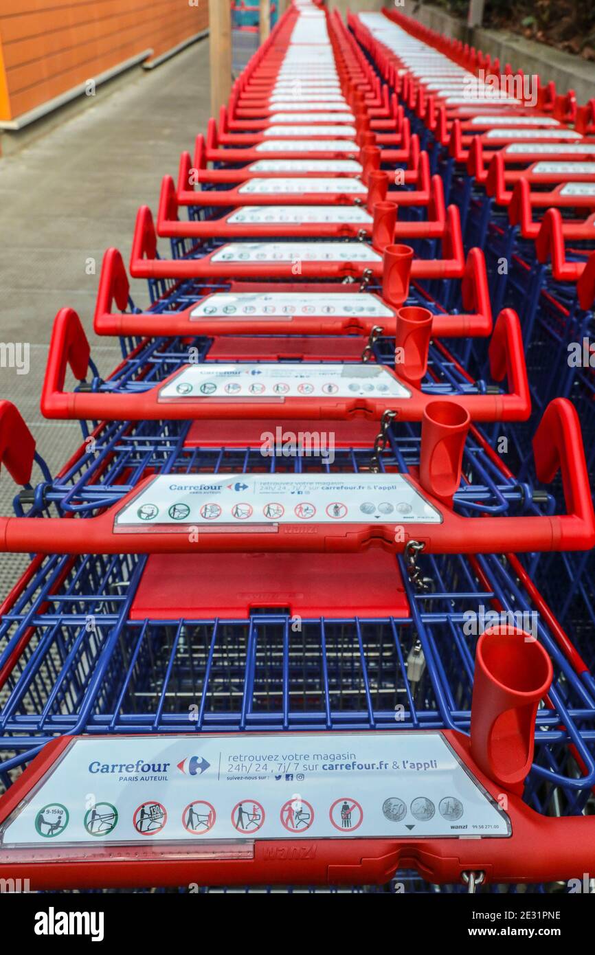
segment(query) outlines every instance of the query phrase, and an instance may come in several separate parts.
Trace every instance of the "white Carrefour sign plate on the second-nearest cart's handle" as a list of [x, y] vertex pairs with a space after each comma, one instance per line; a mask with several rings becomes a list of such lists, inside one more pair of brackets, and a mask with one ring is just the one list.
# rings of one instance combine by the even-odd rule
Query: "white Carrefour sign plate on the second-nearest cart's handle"
[[[284, 439], [284, 434], [286, 439]], [[331, 435], [263, 433], [263, 460], [331, 455]], [[285, 450], [284, 450], [285, 449]], [[439, 524], [440, 512], [402, 475], [159, 475], [118, 511], [115, 531], [192, 525]]]

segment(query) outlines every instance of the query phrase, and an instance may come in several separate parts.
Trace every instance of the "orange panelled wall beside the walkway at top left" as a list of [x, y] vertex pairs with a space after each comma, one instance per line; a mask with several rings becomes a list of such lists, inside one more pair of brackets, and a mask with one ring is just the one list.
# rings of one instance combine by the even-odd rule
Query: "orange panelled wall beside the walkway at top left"
[[0, 119], [27, 113], [54, 96], [152, 49], [166, 53], [208, 27], [199, 0], [2, 0]]

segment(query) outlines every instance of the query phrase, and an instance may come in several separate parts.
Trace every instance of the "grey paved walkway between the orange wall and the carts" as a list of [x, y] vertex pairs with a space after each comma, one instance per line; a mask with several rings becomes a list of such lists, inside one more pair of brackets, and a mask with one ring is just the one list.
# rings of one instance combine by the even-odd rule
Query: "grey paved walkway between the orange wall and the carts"
[[[208, 40], [154, 71], [103, 93], [19, 153], [0, 159], [0, 342], [30, 342], [31, 371], [0, 368], [0, 397], [10, 398], [38, 439], [52, 470], [74, 451], [80, 431], [47, 422], [39, 412], [53, 317], [79, 313], [101, 373], [118, 361], [117, 342], [92, 331], [104, 250], [116, 245], [128, 262], [139, 205], [156, 212], [165, 173], [177, 175], [182, 149], [209, 117]], [[96, 275], [86, 274], [96, 260]], [[145, 283], [133, 284], [138, 304]], [[0, 513], [11, 513], [14, 485], [0, 474]], [[0, 557], [0, 596], [24, 561]]]

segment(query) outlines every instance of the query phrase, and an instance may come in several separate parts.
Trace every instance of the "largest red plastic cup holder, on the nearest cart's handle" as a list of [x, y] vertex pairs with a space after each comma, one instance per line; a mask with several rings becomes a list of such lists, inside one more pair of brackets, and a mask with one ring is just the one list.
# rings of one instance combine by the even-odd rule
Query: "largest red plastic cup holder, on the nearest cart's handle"
[[476, 650], [471, 708], [471, 754], [485, 775], [522, 792], [531, 768], [540, 700], [553, 679], [547, 653], [514, 626], [482, 633]]

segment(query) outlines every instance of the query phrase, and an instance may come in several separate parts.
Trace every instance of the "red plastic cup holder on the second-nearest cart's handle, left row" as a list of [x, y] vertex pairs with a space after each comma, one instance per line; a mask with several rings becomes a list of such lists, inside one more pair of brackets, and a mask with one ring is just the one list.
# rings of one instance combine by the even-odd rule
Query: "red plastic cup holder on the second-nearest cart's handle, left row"
[[421, 421], [419, 478], [435, 498], [452, 504], [460, 484], [471, 416], [454, 401], [431, 401]]

